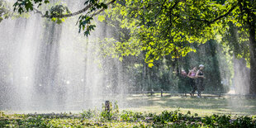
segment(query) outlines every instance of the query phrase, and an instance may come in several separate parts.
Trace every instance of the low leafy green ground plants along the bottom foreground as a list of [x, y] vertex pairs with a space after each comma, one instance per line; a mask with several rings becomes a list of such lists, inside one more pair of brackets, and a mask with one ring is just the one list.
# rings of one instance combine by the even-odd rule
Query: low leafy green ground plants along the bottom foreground
[[256, 127], [255, 116], [211, 115], [198, 117], [176, 111], [155, 113], [139, 113], [123, 111], [118, 120], [102, 121], [97, 117], [84, 119], [82, 115], [72, 113], [62, 114], [12, 114], [0, 115], [1, 127]]

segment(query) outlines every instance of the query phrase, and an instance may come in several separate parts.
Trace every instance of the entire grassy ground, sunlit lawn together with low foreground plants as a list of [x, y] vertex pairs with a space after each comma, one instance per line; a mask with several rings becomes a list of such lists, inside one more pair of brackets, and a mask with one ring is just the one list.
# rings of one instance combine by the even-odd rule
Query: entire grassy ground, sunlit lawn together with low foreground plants
[[121, 109], [113, 107], [111, 114], [101, 107], [59, 114], [0, 111], [0, 127], [256, 127], [255, 98], [156, 93], [120, 99]]

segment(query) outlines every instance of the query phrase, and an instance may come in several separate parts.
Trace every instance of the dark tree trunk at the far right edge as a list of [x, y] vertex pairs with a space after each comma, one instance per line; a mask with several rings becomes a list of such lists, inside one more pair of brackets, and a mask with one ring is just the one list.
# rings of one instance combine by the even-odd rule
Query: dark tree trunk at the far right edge
[[250, 15], [248, 16], [249, 16], [248, 23], [249, 23], [249, 52], [250, 52], [249, 93], [256, 94], [256, 40], [255, 40], [256, 16], [254, 13], [250, 13]]

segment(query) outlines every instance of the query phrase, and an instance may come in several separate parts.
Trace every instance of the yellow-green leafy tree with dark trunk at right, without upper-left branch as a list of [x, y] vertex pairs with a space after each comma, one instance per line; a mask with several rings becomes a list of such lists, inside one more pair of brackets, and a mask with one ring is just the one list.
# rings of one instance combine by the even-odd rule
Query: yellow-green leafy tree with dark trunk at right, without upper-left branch
[[[189, 43], [224, 36], [229, 24], [239, 28], [239, 42], [249, 42], [250, 93], [256, 93], [256, 2], [250, 0], [194, 1], [194, 0], [126, 0], [116, 3], [123, 27], [137, 31], [142, 50], [147, 52], [145, 61], [153, 65], [155, 59], [165, 55], [179, 58], [194, 51]], [[113, 13], [112, 13], [113, 14]], [[113, 14], [115, 15], [115, 14]], [[135, 26], [130, 26], [134, 24]], [[135, 29], [134, 29], [135, 28]], [[131, 32], [131, 34], [133, 34]], [[228, 45], [228, 44], [227, 44]], [[246, 49], [244, 49], [246, 50]]]

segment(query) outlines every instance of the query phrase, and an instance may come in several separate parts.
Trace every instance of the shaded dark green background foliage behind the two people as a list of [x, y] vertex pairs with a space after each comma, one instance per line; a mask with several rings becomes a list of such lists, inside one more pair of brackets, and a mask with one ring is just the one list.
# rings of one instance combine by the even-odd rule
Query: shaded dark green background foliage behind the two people
[[[170, 56], [154, 61], [154, 67], [145, 66], [144, 55], [138, 57], [126, 56], [122, 59], [123, 72], [126, 78], [125, 83], [130, 86], [127, 89], [132, 92], [140, 91], [164, 91], [188, 93], [192, 90], [189, 79], [180, 75], [181, 70], [187, 73], [192, 66], [204, 64], [206, 68], [205, 85], [206, 92], [226, 92], [231, 83], [232, 64], [229, 64], [229, 56], [221, 51], [221, 46], [215, 40], [206, 42], [203, 45], [192, 45], [197, 53], [188, 53], [187, 56], [173, 59]], [[134, 61], [136, 59], [136, 61]], [[228, 65], [228, 66], [226, 66]], [[220, 69], [221, 67], [221, 69]], [[225, 83], [221, 84], [225, 81]], [[224, 88], [225, 86], [225, 88]]]

